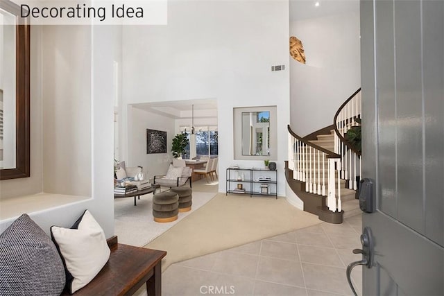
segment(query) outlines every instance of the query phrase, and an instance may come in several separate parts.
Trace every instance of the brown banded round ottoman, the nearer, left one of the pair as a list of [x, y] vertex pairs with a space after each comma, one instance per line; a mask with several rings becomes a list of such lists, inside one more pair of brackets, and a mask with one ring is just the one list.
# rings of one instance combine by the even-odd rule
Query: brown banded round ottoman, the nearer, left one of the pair
[[153, 195], [153, 217], [155, 222], [171, 222], [178, 219], [178, 194], [172, 191]]

